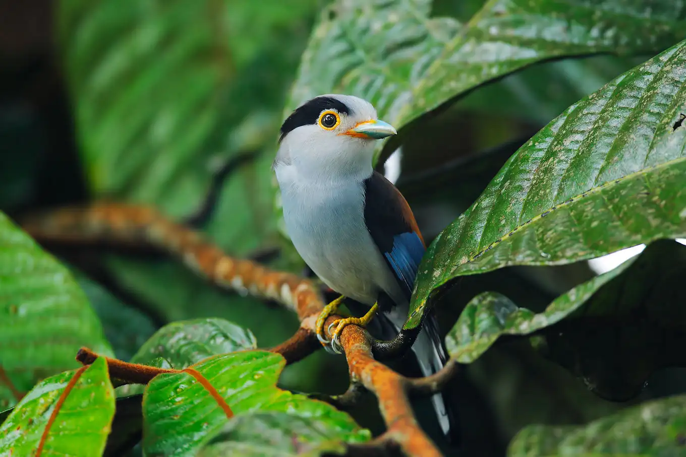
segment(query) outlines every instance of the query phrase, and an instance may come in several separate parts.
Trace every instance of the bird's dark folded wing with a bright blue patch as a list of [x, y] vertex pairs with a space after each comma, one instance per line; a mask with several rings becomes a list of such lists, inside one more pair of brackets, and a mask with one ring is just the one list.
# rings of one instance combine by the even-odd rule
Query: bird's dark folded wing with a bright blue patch
[[376, 171], [364, 181], [364, 220], [374, 243], [394, 271], [407, 299], [426, 247], [410, 205]]

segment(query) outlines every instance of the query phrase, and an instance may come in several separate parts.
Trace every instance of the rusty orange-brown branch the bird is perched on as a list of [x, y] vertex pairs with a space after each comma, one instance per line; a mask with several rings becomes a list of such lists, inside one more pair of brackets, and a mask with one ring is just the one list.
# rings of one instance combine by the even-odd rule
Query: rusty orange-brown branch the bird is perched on
[[[270, 349], [282, 354], [287, 362], [300, 360], [321, 347], [314, 330], [324, 301], [312, 282], [291, 273], [272, 271], [257, 262], [227, 256], [198, 232], [169, 221], [152, 208], [125, 204], [64, 208], [27, 219], [23, 227], [38, 240], [57, 243], [105, 241], [126, 245], [145, 244], [163, 249], [221, 288], [270, 299], [296, 312], [300, 328], [287, 341]], [[329, 317], [324, 328], [328, 328], [336, 319], [340, 317]], [[331, 339], [330, 334], [327, 336]], [[369, 334], [357, 325], [346, 326], [340, 335], [352, 386], [361, 384], [377, 396], [387, 427], [387, 431], [371, 443], [355, 445], [355, 452], [360, 449], [368, 451], [355, 455], [375, 455], [373, 452], [383, 455], [399, 447], [408, 456], [440, 456], [434, 443], [419, 427], [408, 394], [438, 391], [454, 375], [458, 365], [451, 362], [436, 375], [409, 380], [375, 360], [372, 349], [380, 349], [381, 354], [394, 354], [397, 347], [406, 345], [408, 336], [414, 341], [416, 335], [397, 338], [396, 343], [402, 344], [392, 343], [385, 348], [373, 344]], [[96, 357], [97, 354], [82, 350], [78, 360], [88, 365]], [[113, 377], [130, 382], [149, 382], [156, 373], [170, 371], [127, 364], [121, 360], [108, 359], [108, 363]], [[355, 392], [341, 395], [339, 399], [345, 402], [354, 397]]]

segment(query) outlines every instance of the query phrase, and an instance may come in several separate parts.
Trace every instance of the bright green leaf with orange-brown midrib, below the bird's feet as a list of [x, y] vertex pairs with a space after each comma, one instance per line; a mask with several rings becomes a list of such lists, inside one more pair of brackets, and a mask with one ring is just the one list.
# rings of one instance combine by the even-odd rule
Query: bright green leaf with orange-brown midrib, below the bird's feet
[[[331, 439], [369, 439], [344, 412], [276, 388], [285, 360], [267, 351], [241, 351], [206, 359], [192, 368], [216, 389], [234, 415], [287, 412], [326, 423]], [[228, 421], [226, 412], [191, 374], [158, 375], [143, 397], [143, 448], [147, 455], [191, 456]]]

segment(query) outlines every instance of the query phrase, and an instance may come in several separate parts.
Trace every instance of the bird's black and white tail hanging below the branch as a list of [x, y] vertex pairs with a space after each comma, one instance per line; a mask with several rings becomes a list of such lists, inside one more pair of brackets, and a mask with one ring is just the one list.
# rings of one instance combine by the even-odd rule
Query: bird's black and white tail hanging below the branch
[[[412, 351], [416, 354], [419, 368], [424, 376], [438, 372], [445, 365], [447, 357], [443, 348], [438, 330], [438, 322], [433, 313], [429, 314], [424, 321], [423, 328], [419, 332]], [[459, 424], [456, 411], [445, 393], [436, 393], [431, 397], [431, 403], [436, 410], [438, 423], [443, 434], [453, 444], [459, 441]]]

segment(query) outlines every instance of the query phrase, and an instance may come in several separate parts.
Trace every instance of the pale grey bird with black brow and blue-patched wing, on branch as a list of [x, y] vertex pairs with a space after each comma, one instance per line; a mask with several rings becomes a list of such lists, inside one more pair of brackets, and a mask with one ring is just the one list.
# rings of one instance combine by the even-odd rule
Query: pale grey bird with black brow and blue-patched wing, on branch
[[[426, 245], [403, 195], [372, 166], [375, 141], [395, 134], [370, 102], [353, 95], [309, 99], [281, 125], [272, 169], [286, 232], [309, 269], [340, 294], [320, 314], [320, 341], [329, 343], [324, 321], [344, 299], [366, 309], [362, 317], [332, 324], [332, 347], [346, 325], [367, 326], [378, 315], [376, 328], [396, 335], [407, 319]], [[445, 365], [433, 314], [425, 318], [412, 351], [425, 376]], [[453, 413], [440, 394], [431, 402], [449, 436]]]

